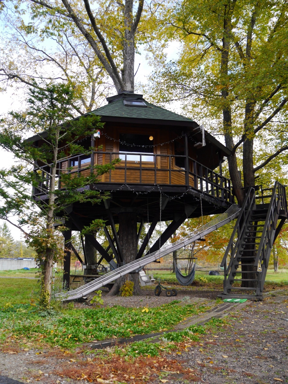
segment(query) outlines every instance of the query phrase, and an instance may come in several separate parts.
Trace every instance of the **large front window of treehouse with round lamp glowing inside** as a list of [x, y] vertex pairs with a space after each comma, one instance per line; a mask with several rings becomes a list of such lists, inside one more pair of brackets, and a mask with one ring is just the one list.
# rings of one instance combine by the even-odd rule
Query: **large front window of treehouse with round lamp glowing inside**
[[[127, 155], [128, 161], [154, 161], [153, 152], [153, 137], [150, 135], [137, 135], [129, 133], [121, 133], [119, 136], [119, 158], [125, 160], [124, 153], [133, 152]], [[122, 153], [122, 155], [121, 155]]]

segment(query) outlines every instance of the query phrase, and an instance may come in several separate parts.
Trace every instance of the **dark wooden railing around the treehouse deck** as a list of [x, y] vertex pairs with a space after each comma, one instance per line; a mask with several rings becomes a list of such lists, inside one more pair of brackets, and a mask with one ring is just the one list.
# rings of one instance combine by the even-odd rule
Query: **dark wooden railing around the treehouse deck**
[[[116, 164], [115, 169], [100, 176], [99, 184], [186, 186], [234, 203], [230, 179], [217, 174], [195, 159], [182, 155], [94, 151], [91, 155], [72, 156], [58, 163], [58, 188], [61, 188], [61, 174], [69, 172], [75, 174], [75, 177], [89, 175], [94, 171], [95, 165], [108, 164], [118, 158], [121, 158], [121, 162]], [[48, 190], [50, 167], [44, 166], [40, 170], [42, 183], [35, 190], [35, 195], [43, 195]]]

